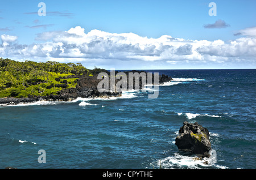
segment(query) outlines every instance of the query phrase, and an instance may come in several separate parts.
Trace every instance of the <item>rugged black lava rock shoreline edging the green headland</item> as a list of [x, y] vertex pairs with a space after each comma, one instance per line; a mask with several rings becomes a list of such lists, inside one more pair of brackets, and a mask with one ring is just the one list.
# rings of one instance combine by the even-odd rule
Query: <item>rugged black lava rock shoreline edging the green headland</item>
[[[152, 79], [153, 78], [154, 76]], [[48, 96], [28, 95], [28, 97], [2, 97], [0, 98], [0, 106], [17, 105], [22, 103], [26, 104], [37, 101], [69, 102], [76, 100], [77, 98], [111, 98], [122, 96], [122, 92], [99, 92], [97, 85], [100, 81], [101, 80], [97, 79], [96, 75], [90, 77], [79, 77], [75, 88], [64, 88], [58, 91], [56, 94], [51, 94]], [[163, 74], [159, 76], [159, 85], [172, 81], [173, 79], [168, 75]], [[115, 83], [117, 83], [117, 81], [115, 81]], [[146, 87], [146, 85], [144, 85], [144, 87]], [[127, 84], [127, 90], [129, 90], [128, 87], [129, 86]], [[135, 89], [135, 86], [133, 89]], [[142, 89], [142, 82], [140, 80], [138, 90]]]

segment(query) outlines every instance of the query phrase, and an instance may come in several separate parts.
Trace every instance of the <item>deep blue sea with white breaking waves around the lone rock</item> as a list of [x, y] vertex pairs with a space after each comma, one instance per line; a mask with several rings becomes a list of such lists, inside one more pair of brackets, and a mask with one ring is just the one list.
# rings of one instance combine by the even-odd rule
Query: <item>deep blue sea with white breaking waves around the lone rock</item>
[[[256, 70], [149, 72], [176, 82], [160, 85], [154, 99], [128, 91], [109, 100], [1, 106], [0, 168], [256, 168]], [[178, 151], [184, 121], [208, 128], [216, 163]]]

